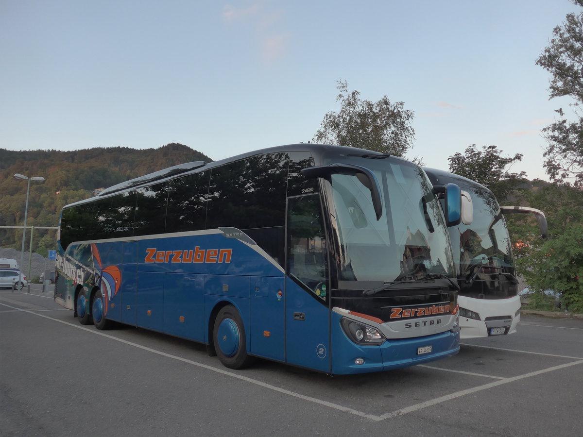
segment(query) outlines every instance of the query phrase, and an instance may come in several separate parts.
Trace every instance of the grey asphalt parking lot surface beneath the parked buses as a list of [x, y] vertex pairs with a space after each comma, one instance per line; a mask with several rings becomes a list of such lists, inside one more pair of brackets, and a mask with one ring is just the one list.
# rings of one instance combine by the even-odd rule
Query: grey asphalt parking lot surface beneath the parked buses
[[581, 319], [523, 315], [446, 360], [330, 377], [231, 371], [189, 341], [81, 326], [51, 297], [0, 290], [2, 435], [78, 435], [88, 411], [94, 435], [581, 435]]

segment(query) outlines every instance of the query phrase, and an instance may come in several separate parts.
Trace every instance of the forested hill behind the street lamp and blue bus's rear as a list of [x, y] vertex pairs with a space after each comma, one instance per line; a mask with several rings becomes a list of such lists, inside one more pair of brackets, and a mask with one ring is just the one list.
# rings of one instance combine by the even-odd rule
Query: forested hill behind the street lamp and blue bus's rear
[[[22, 225], [27, 182], [13, 178], [42, 176], [31, 182], [27, 225], [57, 226], [64, 205], [92, 196], [128, 179], [190, 161], [210, 162], [208, 156], [188, 146], [171, 143], [158, 149], [94, 147], [60, 151], [12, 151], [0, 149], [0, 225]], [[54, 231], [35, 231], [33, 250], [54, 249]], [[0, 247], [20, 249], [22, 231], [0, 228]], [[26, 247], [28, 248], [28, 238]]]

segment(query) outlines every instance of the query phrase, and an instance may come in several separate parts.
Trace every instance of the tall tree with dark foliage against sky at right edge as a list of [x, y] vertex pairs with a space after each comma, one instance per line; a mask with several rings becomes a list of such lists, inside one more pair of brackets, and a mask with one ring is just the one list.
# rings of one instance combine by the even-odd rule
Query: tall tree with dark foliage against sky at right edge
[[[583, 0], [573, 2], [583, 7]], [[553, 75], [550, 98], [570, 96], [575, 100], [578, 121], [570, 123], [563, 108], [556, 110], [559, 119], [542, 129], [547, 141], [544, 165], [552, 179], [574, 178], [575, 185], [583, 185], [583, 117], [578, 108], [583, 103], [583, 13], [567, 14], [553, 35], [536, 64]]]

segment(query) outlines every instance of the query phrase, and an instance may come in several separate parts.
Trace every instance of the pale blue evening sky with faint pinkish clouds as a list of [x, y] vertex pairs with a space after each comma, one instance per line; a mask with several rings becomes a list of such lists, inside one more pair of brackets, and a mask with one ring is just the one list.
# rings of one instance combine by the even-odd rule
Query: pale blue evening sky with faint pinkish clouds
[[476, 144], [546, 178], [535, 60], [568, 0], [0, 0], [0, 148], [177, 142], [214, 160], [307, 142], [336, 80], [415, 112], [431, 167]]

